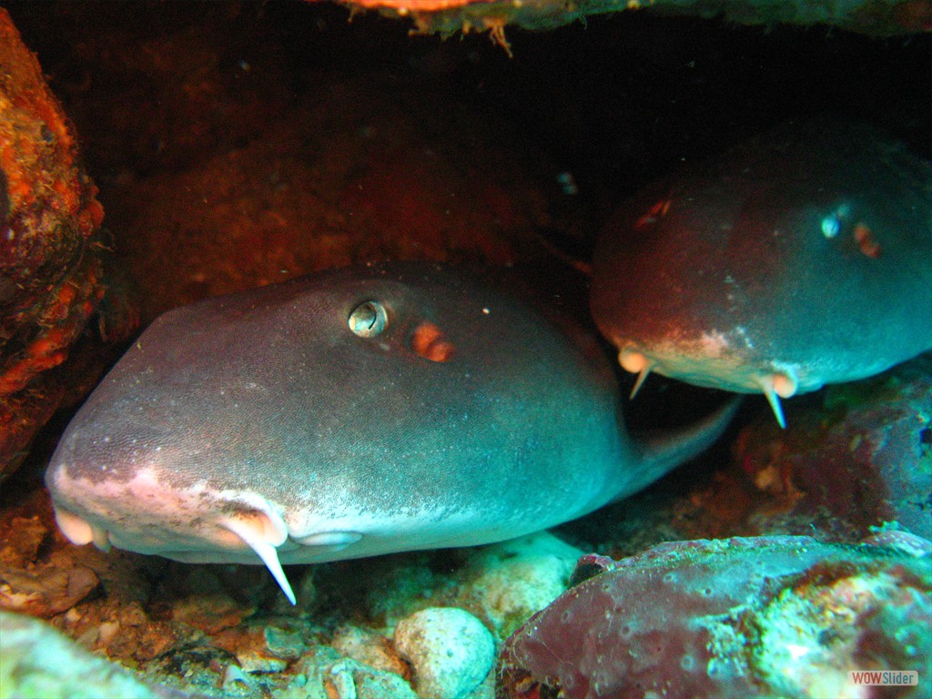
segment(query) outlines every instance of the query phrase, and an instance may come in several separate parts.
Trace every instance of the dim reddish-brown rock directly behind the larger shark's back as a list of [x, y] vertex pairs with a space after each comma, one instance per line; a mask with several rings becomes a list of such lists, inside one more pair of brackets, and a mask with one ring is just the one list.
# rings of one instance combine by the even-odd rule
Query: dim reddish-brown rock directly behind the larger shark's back
[[[484, 117], [457, 115], [475, 134], [468, 144], [432, 138], [446, 123], [437, 109], [451, 102], [445, 92], [424, 98], [345, 75], [319, 89], [272, 123], [263, 112], [263, 132], [245, 144], [119, 185], [108, 220], [127, 230], [120, 252], [144, 284], [144, 322], [205, 296], [354, 262], [511, 264], [514, 241], [547, 225], [541, 185], [516, 166], [514, 146], [484, 135]], [[434, 105], [421, 117], [436, 122], [428, 128], [411, 119], [421, 100]], [[477, 153], [495, 164], [473, 172], [465, 164]], [[168, 268], [166, 250], [179, 251]]]

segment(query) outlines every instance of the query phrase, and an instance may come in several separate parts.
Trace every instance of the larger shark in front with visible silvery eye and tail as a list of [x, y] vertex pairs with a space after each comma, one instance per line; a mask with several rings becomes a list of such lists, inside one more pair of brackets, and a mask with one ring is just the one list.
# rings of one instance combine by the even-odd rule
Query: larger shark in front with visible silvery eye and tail
[[281, 563], [552, 527], [647, 486], [728, 418], [634, 444], [592, 338], [443, 267], [349, 267], [158, 318], [46, 479], [75, 543], [261, 558], [294, 601]]

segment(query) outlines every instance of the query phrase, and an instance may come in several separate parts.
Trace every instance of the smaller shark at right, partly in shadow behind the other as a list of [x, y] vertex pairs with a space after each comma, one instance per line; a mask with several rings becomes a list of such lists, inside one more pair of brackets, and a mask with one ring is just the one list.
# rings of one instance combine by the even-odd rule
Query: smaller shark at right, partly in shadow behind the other
[[932, 349], [932, 166], [865, 125], [785, 124], [624, 205], [591, 306], [628, 371], [779, 397]]

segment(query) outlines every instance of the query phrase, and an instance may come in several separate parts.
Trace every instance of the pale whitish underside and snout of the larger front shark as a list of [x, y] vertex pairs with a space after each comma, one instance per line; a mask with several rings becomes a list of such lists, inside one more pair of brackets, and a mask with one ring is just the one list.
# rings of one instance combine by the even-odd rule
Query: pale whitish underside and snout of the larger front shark
[[253, 564], [255, 555], [292, 604], [295, 593], [282, 563], [469, 546], [538, 528], [516, 528], [477, 509], [365, 511], [336, 492], [307, 494], [303, 500], [313, 506], [288, 512], [254, 491], [215, 490], [205, 482], [172, 487], [171, 477], [151, 466], [123, 481], [72, 478], [62, 468], [49, 485], [62, 533], [75, 544], [112, 543], [186, 563]]

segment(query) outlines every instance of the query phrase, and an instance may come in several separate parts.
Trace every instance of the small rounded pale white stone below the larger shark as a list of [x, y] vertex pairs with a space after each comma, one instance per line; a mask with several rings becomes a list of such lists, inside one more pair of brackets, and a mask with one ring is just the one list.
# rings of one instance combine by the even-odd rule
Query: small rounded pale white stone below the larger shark
[[495, 640], [487, 628], [455, 607], [415, 612], [399, 622], [394, 641], [413, 667], [421, 699], [462, 699], [495, 662]]

